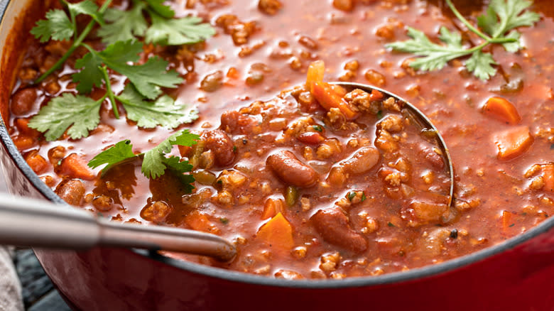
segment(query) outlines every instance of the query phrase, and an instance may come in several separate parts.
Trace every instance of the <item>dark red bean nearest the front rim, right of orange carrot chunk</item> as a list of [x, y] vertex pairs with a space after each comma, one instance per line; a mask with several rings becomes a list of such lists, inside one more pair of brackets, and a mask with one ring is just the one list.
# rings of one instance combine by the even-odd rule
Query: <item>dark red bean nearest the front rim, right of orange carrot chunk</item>
[[367, 249], [364, 237], [350, 228], [347, 215], [337, 207], [320, 209], [311, 218], [313, 226], [322, 238], [344, 249], [360, 253]]

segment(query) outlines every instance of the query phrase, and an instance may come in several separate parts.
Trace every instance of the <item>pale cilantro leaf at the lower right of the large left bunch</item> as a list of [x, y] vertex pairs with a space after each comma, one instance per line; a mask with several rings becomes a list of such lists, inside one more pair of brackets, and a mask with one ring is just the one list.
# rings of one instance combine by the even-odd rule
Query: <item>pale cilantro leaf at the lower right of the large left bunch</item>
[[136, 121], [143, 128], [161, 125], [173, 129], [197, 118], [195, 110], [187, 113], [185, 106], [175, 104], [167, 95], [159, 97], [155, 102], [147, 102], [130, 84], [116, 98], [127, 111], [127, 119]]

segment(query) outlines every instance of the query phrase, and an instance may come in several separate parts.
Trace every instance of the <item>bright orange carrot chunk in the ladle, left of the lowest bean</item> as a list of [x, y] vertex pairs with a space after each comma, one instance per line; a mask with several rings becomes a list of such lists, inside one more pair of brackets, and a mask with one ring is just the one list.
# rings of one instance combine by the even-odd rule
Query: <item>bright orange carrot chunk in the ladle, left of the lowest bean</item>
[[266, 241], [270, 246], [283, 251], [290, 251], [294, 246], [293, 227], [290, 226], [281, 212], [261, 226], [256, 238]]

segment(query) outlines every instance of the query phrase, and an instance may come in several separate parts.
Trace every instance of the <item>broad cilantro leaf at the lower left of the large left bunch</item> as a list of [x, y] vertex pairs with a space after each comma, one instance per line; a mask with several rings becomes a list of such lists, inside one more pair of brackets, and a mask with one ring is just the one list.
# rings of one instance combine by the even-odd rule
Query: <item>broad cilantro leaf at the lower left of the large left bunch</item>
[[45, 133], [47, 141], [55, 141], [66, 130], [70, 138], [79, 139], [88, 136], [99, 124], [100, 104], [102, 101], [65, 93], [41, 108], [29, 121], [29, 127]]

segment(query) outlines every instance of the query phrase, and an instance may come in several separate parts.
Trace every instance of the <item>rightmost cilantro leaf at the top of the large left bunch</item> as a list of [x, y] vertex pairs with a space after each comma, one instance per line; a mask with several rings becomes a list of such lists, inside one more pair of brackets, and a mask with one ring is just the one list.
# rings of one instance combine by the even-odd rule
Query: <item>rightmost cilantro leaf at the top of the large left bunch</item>
[[146, 31], [146, 43], [183, 45], [203, 41], [215, 34], [215, 29], [209, 23], [201, 23], [200, 17], [165, 19], [156, 13], [151, 17], [152, 26]]

